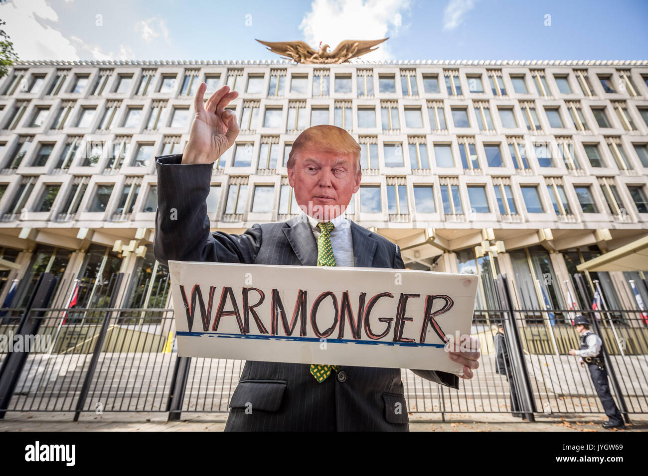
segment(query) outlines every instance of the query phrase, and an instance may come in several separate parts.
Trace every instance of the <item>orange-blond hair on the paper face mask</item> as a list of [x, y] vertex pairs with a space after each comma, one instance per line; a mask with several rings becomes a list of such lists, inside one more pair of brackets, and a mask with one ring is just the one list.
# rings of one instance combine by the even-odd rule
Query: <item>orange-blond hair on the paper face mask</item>
[[292, 143], [288, 154], [287, 168], [294, 168], [297, 155], [301, 150], [317, 144], [319, 152], [332, 152], [340, 155], [352, 154], [356, 164], [356, 174], [360, 174], [360, 144], [347, 131], [338, 126], [320, 124], [303, 131]]

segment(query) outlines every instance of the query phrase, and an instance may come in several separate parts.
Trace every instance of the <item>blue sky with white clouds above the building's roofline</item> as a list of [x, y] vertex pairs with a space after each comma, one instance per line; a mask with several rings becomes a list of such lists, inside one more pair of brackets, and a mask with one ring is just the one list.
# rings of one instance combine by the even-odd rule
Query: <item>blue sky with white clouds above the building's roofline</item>
[[367, 60], [646, 60], [648, 0], [8, 0], [22, 60], [270, 60], [255, 38], [389, 40]]

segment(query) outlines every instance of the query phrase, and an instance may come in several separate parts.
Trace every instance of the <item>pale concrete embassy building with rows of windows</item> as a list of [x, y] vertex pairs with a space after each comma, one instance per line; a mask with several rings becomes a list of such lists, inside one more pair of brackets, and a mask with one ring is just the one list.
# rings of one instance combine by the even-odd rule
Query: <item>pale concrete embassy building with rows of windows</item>
[[240, 134], [207, 199], [213, 231], [300, 212], [292, 141], [334, 124], [362, 146], [347, 216], [412, 269], [480, 275], [476, 321], [498, 308], [499, 273], [518, 309], [590, 308], [577, 274], [609, 309], [639, 310], [636, 293], [648, 303], [642, 269], [586, 269], [648, 236], [646, 61], [28, 61], [0, 80], [3, 307], [25, 306], [43, 271], [60, 278], [55, 306], [76, 292], [86, 307], [171, 307], [152, 251], [154, 162], [183, 151], [202, 81], [205, 98], [239, 93]]

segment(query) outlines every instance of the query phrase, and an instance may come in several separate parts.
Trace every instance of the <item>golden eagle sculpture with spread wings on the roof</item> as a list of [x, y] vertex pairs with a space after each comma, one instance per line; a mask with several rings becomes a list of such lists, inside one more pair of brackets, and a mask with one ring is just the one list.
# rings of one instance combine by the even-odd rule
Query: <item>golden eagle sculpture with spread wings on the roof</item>
[[379, 45], [389, 37], [382, 40], [344, 40], [336, 49], [327, 52], [329, 45], [321, 44], [319, 42], [319, 51], [312, 49], [307, 43], [303, 41], [259, 41], [262, 45], [266, 45], [273, 53], [281, 54], [286, 60], [293, 60], [297, 63], [344, 63], [348, 62], [351, 58], [362, 56], [377, 48]]

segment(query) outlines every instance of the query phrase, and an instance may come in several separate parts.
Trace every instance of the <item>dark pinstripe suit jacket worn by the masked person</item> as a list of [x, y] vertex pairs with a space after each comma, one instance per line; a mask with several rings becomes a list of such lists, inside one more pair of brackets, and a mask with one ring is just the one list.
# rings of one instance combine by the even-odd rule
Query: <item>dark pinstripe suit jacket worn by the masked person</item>
[[[159, 262], [317, 265], [317, 242], [307, 221], [256, 223], [243, 234], [211, 232], [205, 200], [213, 165], [182, 165], [181, 159], [181, 154], [156, 157], [153, 249]], [[404, 268], [399, 247], [386, 238], [353, 221], [351, 236], [356, 266]], [[459, 387], [454, 374], [413, 372]], [[400, 368], [341, 366], [318, 383], [308, 364], [246, 361], [229, 407], [226, 431], [409, 430]]]

